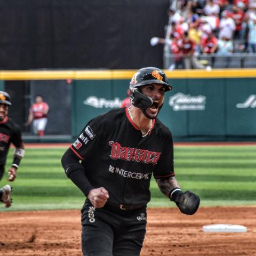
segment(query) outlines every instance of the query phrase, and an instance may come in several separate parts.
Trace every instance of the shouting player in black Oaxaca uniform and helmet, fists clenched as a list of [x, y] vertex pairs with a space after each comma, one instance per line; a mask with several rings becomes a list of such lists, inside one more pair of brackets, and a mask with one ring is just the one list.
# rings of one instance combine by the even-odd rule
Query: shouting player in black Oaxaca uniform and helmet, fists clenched
[[87, 197], [82, 209], [84, 256], [138, 256], [146, 233], [150, 179], [180, 211], [194, 214], [199, 197], [174, 177], [172, 134], [157, 119], [170, 91], [158, 68], [138, 70], [132, 105], [92, 119], [62, 156], [67, 176]]

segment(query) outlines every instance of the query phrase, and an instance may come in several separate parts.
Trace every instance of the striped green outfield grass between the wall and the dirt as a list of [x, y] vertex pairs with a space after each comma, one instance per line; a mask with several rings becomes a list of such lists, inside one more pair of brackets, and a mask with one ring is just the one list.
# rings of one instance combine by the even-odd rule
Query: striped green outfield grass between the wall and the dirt
[[[65, 175], [60, 159], [67, 148], [27, 148], [18, 177], [7, 182], [9, 152], [0, 187], [13, 187], [13, 205], [0, 211], [81, 209], [82, 192]], [[175, 146], [175, 177], [183, 190], [194, 191], [202, 206], [256, 205], [256, 146]], [[149, 207], [175, 206], [151, 180]]]

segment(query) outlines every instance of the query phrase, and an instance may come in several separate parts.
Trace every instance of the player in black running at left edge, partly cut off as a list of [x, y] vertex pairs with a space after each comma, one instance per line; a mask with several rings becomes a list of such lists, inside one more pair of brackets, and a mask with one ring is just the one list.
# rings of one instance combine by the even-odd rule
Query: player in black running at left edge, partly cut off
[[[21, 158], [25, 154], [25, 149], [19, 126], [7, 116], [9, 106], [11, 106], [10, 95], [7, 92], [0, 91], [0, 180], [4, 175], [6, 157], [12, 142], [15, 149], [13, 163], [8, 170], [8, 180], [14, 181], [17, 176], [17, 169]], [[5, 204], [5, 207], [11, 206], [11, 190], [10, 185], [0, 188], [0, 201]]]

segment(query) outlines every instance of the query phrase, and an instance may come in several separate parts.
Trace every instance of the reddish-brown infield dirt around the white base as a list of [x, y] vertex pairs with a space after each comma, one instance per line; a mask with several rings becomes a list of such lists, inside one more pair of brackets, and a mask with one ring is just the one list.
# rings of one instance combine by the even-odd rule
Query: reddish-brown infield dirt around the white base
[[[0, 255], [82, 255], [79, 210], [0, 212], [0, 223]], [[202, 231], [213, 223], [243, 225], [248, 231]], [[149, 255], [256, 255], [256, 206], [201, 207], [192, 216], [177, 208], [148, 209], [141, 256]]]

